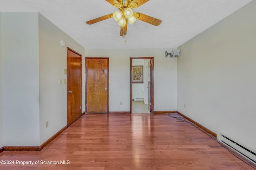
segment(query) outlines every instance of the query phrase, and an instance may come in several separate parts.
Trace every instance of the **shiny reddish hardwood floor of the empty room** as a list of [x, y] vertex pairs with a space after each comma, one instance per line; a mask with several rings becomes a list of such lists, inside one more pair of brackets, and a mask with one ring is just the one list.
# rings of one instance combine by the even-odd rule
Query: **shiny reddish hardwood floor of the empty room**
[[85, 114], [40, 152], [4, 151], [0, 160], [14, 160], [4, 170], [254, 169], [189, 123], [150, 113]]

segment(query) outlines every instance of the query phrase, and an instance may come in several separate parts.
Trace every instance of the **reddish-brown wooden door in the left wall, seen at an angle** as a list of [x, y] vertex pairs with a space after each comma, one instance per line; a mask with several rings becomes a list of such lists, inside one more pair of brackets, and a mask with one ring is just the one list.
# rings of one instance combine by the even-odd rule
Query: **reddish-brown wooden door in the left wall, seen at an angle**
[[82, 114], [82, 55], [67, 48], [68, 126]]

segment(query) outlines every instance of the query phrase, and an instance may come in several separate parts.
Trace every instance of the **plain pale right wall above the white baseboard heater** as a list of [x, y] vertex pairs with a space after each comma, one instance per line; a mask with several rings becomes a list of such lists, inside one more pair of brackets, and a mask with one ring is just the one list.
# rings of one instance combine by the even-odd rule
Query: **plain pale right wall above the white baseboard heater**
[[184, 43], [178, 57], [178, 111], [254, 151], [255, 8], [254, 0]]

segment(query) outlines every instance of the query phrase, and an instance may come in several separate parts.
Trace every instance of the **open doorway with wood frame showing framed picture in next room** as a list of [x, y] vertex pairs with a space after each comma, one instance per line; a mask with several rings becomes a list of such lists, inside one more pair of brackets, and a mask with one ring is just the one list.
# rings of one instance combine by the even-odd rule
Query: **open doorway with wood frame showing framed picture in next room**
[[154, 57], [130, 57], [130, 113], [154, 113]]

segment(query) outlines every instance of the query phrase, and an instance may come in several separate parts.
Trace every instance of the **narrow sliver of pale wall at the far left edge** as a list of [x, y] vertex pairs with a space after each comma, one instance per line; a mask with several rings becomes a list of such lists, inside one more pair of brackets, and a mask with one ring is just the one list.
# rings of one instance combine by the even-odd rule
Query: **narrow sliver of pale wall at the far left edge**
[[2, 12], [0, 12], [0, 148], [4, 146], [4, 111], [3, 111], [3, 85], [2, 85]]

